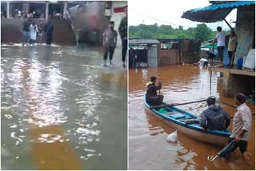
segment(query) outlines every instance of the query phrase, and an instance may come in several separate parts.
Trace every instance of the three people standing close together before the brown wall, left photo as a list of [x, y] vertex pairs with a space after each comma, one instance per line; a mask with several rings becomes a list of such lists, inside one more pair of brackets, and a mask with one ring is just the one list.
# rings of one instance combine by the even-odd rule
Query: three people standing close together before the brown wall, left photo
[[27, 18], [22, 26], [22, 46], [25, 44], [27, 44], [27, 46], [34, 46], [34, 42], [37, 42], [38, 37], [41, 38], [40, 42], [42, 43], [43, 36], [46, 37], [46, 44], [50, 45], [52, 42], [53, 31], [54, 26], [50, 21], [47, 22], [45, 26], [38, 28], [31, 18]]

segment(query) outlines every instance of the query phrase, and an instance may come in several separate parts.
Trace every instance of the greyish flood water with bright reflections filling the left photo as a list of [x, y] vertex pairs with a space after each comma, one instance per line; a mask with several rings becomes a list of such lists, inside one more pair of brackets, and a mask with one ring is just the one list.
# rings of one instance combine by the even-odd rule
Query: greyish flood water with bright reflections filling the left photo
[[121, 49], [2, 46], [2, 169], [126, 169]]

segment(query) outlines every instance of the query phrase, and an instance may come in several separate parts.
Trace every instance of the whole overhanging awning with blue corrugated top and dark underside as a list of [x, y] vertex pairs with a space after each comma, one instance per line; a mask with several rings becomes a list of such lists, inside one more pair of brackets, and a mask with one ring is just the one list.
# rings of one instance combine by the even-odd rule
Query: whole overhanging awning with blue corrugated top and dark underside
[[211, 4], [210, 6], [188, 10], [182, 14], [182, 18], [186, 18], [194, 22], [221, 22], [234, 8], [250, 5], [255, 5], [255, 1]]

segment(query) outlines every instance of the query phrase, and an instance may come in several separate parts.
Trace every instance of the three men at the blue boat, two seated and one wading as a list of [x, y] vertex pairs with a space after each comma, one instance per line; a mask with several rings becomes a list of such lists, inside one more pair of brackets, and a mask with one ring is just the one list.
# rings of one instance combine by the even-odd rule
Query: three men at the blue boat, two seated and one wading
[[[156, 84], [158, 80], [158, 85]], [[147, 84], [146, 102], [151, 106], [162, 105], [163, 95], [160, 94], [162, 82], [160, 78], [151, 77]], [[159, 90], [159, 94], [157, 91]], [[203, 129], [223, 131], [230, 125], [230, 115], [222, 107], [215, 105], [215, 98], [208, 97], [206, 100], [208, 109], [204, 110], [198, 117], [199, 124]], [[252, 116], [250, 108], [246, 105], [246, 96], [243, 93], [237, 93], [234, 97], [234, 103], [237, 105], [237, 111], [234, 113], [233, 128], [230, 139], [227, 143], [234, 140], [236, 144], [232, 151], [239, 147], [243, 158], [246, 160], [246, 149], [250, 140]], [[230, 158], [230, 153], [226, 153], [226, 159]]]

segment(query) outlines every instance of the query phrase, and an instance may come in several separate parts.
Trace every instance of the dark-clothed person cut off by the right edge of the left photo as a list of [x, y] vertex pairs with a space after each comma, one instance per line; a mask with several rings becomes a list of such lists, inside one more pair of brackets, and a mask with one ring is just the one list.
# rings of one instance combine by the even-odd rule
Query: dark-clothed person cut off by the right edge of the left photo
[[127, 6], [124, 10], [126, 16], [122, 18], [120, 25], [118, 27], [118, 32], [122, 40], [122, 66], [126, 67], [126, 52], [127, 52]]

